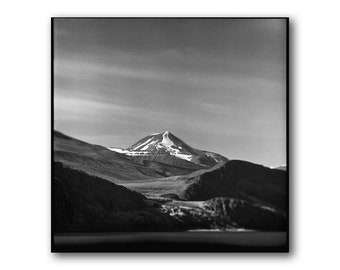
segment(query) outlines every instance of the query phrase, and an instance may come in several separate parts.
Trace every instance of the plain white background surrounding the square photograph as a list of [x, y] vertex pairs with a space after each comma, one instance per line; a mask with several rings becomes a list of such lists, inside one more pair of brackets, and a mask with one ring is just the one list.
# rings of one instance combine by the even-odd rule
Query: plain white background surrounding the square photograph
[[[325, 0], [3, 1], [1, 268], [340, 269], [340, 9], [336, 3]], [[289, 16], [291, 253], [51, 254], [51, 16]]]

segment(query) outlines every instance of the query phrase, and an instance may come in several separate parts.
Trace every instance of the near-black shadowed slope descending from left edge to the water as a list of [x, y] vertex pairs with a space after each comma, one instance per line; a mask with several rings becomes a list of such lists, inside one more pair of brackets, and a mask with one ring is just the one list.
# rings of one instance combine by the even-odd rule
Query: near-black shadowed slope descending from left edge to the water
[[152, 231], [178, 223], [148, 207], [143, 195], [58, 162], [52, 191], [54, 232]]

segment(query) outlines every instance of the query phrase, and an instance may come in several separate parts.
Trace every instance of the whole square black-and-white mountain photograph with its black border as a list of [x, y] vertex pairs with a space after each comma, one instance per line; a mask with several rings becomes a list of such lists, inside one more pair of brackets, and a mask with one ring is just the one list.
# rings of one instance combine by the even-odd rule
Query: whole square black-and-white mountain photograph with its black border
[[52, 252], [289, 252], [289, 19], [52, 18]]

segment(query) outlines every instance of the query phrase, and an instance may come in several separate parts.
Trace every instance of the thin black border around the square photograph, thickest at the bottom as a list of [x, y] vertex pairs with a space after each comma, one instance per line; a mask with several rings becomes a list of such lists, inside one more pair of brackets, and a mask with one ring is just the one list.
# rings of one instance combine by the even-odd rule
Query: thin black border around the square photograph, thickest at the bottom
[[[204, 253], [216, 253], [216, 252], [230, 252], [230, 253], [238, 253], [238, 252], [246, 252], [246, 253], [277, 253], [289, 252], [289, 242], [290, 242], [290, 214], [289, 214], [289, 17], [118, 17], [117, 19], [283, 19], [286, 22], [286, 154], [287, 154], [287, 218], [288, 218], [288, 228], [286, 234], [286, 243], [282, 246], [278, 247], [254, 247], [254, 246], [232, 246], [218, 243], [207, 243], [205, 241], [197, 241], [197, 242], [177, 242], [177, 241], [167, 241], [164, 239], [150, 239], [144, 240], [141, 242], [117, 242], [115, 245], [107, 245], [102, 243], [100, 245], [87, 245], [87, 246], [79, 246], [79, 245], [68, 245], [68, 246], [60, 246], [56, 245], [54, 239], [55, 228], [54, 224], [54, 212], [52, 203], [54, 201], [54, 190], [53, 185], [51, 184], [51, 252], [52, 253], [74, 253], [74, 252], [204, 252]], [[51, 179], [54, 177], [54, 22], [57, 19], [115, 19], [115, 17], [52, 17], [51, 18]], [[51, 181], [51, 180], [50, 180]], [[132, 236], [133, 237], [133, 236]]]

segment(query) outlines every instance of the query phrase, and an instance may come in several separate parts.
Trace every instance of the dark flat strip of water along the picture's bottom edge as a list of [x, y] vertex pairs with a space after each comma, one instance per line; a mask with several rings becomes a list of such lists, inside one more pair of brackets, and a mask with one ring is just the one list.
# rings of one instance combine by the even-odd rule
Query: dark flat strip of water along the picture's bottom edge
[[286, 232], [63, 233], [53, 252], [287, 252]]

